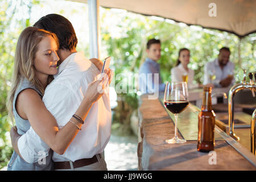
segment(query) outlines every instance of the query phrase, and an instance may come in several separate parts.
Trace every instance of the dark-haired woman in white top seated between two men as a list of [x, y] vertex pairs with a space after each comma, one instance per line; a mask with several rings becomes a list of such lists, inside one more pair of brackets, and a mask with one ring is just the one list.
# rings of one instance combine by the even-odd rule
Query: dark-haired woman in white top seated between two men
[[190, 51], [187, 48], [182, 48], [179, 51], [179, 58], [177, 59], [176, 67], [171, 69], [172, 81], [185, 81], [185, 77], [187, 75], [187, 84], [188, 88], [197, 88], [199, 84], [193, 84], [193, 79], [195, 72], [188, 68], [190, 58]]

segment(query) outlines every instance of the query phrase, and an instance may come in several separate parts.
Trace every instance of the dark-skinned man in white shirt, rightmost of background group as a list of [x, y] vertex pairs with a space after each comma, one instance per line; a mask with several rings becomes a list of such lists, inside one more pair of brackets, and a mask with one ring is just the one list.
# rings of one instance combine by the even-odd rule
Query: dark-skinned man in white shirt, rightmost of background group
[[222, 47], [218, 58], [204, 67], [204, 85], [213, 84], [216, 87], [227, 87], [234, 84], [234, 64], [229, 60], [230, 50]]

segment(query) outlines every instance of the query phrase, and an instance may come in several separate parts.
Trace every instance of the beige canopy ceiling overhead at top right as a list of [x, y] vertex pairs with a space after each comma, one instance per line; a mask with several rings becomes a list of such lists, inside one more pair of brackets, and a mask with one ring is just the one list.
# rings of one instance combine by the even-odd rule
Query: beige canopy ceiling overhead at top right
[[[85, 2], [87, 0], [71, 0]], [[256, 32], [255, 0], [99, 0], [100, 6], [125, 9], [232, 32], [240, 37]], [[217, 16], [209, 16], [210, 3], [216, 4]]]

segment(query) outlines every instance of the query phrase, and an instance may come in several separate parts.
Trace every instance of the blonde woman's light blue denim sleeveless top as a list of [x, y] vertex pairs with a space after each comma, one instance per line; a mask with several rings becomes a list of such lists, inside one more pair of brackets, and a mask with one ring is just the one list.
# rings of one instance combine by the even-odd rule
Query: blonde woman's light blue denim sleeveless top
[[[15, 103], [16, 103], [16, 98], [20, 92], [24, 89], [34, 89], [38, 94], [42, 96], [42, 93], [39, 92], [36, 87], [31, 84], [26, 78], [24, 78], [22, 81], [20, 81], [20, 84], [18, 86], [18, 89], [15, 92], [14, 95], [14, 100], [13, 100], [13, 114], [15, 118], [15, 124], [17, 127], [17, 131], [19, 135], [25, 134], [29, 129], [30, 129], [30, 122], [28, 120], [22, 119], [19, 114], [16, 111], [15, 108]], [[42, 162], [39, 164], [38, 162], [36, 163], [27, 163], [25, 160], [20, 158], [16, 152], [13, 152], [13, 155], [11, 156], [11, 160], [8, 164], [7, 170], [8, 171], [44, 171], [44, 170], [52, 170], [53, 162], [51, 160], [52, 158], [52, 150], [49, 151], [49, 155], [46, 157], [46, 164], [42, 164]]]

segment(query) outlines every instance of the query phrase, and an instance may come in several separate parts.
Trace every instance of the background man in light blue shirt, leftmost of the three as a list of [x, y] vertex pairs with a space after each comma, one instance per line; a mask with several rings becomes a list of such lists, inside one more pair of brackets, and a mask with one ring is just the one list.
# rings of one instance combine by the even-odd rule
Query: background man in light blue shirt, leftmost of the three
[[161, 57], [160, 40], [148, 40], [146, 52], [147, 58], [139, 69], [139, 90], [142, 94], [164, 92], [165, 84], [159, 75], [160, 65], [157, 63]]

